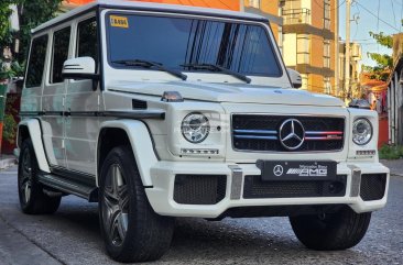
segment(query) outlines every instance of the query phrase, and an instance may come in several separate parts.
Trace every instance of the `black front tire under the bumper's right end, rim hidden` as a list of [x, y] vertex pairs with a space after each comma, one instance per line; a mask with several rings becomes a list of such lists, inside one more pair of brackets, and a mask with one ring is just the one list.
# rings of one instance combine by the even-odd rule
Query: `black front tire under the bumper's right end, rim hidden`
[[336, 213], [290, 218], [296, 238], [316, 251], [340, 251], [357, 245], [370, 220], [371, 212], [356, 213], [347, 206]]

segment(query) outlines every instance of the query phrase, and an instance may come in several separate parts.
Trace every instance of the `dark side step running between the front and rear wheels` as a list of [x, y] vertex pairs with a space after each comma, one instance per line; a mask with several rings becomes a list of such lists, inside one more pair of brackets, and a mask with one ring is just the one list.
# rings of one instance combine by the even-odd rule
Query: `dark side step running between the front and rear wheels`
[[98, 188], [81, 181], [61, 177], [53, 174], [40, 174], [37, 176], [40, 183], [51, 188], [61, 190], [66, 194], [76, 195], [89, 202], [98, 201]]

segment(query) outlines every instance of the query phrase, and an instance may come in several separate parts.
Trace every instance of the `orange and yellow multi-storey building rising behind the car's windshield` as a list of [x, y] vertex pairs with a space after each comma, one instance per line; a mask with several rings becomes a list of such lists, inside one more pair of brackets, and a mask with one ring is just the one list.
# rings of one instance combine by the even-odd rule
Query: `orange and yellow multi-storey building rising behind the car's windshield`
[[302, 75], [302, 89], [339, 96], [336, 0], [241, 1], [246, 12], [254, 8], [269, 18], [286, 66]]

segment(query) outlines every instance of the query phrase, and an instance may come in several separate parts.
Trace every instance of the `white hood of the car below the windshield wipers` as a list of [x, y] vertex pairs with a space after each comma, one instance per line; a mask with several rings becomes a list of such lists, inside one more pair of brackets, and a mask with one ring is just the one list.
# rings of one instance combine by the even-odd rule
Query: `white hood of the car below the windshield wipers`
[[297, 89], [280, 87], [253, 86], [244, 84], [209, 84], [197, 81], [116, 81], [108, 86], [109, 90], [143, 93], [161, 97], [164, 91], [178, 91], [186, 100], [211, 102], [290, 104], [290, 106], [324, 106], [344, 107], [338, 98], [327, 95], [311, 93]]

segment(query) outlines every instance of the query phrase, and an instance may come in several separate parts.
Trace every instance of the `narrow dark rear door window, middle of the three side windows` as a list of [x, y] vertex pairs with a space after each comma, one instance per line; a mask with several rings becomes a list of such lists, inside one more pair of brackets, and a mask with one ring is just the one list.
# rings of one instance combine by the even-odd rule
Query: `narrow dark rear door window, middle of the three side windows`
[[70, 27], [56, 31], [53, 34], [53, 57], [51, 84], [63, 82], [63, 64], [68, 56], [68, 44], [70, 42]]

